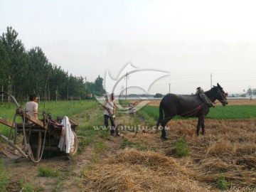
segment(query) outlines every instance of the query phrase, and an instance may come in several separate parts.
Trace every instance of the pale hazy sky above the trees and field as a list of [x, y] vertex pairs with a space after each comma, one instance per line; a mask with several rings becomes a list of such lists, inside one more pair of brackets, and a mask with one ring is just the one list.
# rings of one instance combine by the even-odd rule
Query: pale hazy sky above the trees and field
[[106, 88], [114, 80], [117, 94], [126, 86], [127, 94], [191, 94], [217, 82], [240, 94], [256, 88], [255, 6], [247, 0], [0, 0], [0, 33], [12, 26], [26, 50], [41, 47], [50, 63], [89, 82], [100, 75]]

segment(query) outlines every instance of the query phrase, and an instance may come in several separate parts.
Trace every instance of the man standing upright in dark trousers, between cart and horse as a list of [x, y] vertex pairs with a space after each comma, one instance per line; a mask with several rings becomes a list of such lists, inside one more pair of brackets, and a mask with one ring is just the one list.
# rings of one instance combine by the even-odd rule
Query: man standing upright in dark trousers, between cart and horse
[[105, 128], [108, 129], [108, 119], [110, 119], [111, 122], [111, 129], [110, 134], [114, 135], [114, 129], [116, 127], [116, 124], [114, 122], [114, 112], [115, 112], [115, 105], [116, 101], [114, 100], [114, 93], [110, 94], [110, 100], [107, 98], [107, 95], [105, 95], [105, 103], [102, 105], [104, 110], [104, 124]]

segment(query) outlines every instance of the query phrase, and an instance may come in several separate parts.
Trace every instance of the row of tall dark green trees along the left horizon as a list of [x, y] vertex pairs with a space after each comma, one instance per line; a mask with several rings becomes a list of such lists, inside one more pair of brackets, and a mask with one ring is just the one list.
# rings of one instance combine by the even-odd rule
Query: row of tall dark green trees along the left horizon
[[105, 93], [100, 75], [94, 82], [68, 75], [60, 66], [50, 63], [40, 47], [26, 50], [12, 27], [0, 36], [0, 89], [18, 100], [31, 93], [46, 100], [88, 99], [91, 94]]

